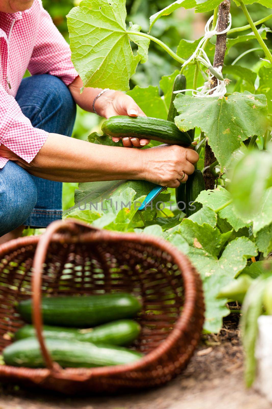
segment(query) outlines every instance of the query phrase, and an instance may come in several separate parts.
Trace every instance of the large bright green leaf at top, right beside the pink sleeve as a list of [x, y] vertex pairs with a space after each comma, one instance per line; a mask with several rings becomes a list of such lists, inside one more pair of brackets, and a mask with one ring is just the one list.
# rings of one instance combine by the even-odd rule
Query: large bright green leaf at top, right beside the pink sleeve
[[149, 40], [130, 34], [125, 19], [125, 0], [83, 0], [68, 14], [72, 61], [84, 86], [128, 90], [137, 64], [147, 60]]

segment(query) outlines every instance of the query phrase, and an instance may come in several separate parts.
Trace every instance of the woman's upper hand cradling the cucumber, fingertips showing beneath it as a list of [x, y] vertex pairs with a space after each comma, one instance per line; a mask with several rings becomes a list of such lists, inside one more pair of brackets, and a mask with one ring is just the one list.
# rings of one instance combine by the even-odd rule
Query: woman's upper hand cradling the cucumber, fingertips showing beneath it
[[[101, 95], [95, 101], [95, 110], [100, 116], [105, 118], [114, 117], [115, 115], [128, 115], [130, 117], [146, 117], [141, 108], [129, 97], [129, 95], [124, 94], [124, 92], [109, 90]], [[119, 142], [122, 138], [113, 137], [113, 142]], [[139, 139], [139, 138], [123, 138], [123, 145], [126, 148], [142, 148], [143, 146], [149, 144], [149, 139]]]

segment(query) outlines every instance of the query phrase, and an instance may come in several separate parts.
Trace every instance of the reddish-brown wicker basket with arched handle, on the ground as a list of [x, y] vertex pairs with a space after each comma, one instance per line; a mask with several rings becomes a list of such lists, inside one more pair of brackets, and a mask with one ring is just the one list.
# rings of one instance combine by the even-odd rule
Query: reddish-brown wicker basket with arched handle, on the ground
[[[32, 280], [32, 283], [31, 283]], [[41, 294], [125, 291], [142, 298], [142, 332], [133, 348], [145, 355], [128, 365], [62, 369], [42, 338]], [[146, 388], [171, 380], [186, 367], [203, 326], [201, 280], [170, 243], [144, 234], [93, 229], [67, 219], [42, 236], [0, 246], [0, 351], [24, 323], [15, 301], [33, 295], [33, 320], [46, 369], [0, 366], [0, 380], [75, 393]]]

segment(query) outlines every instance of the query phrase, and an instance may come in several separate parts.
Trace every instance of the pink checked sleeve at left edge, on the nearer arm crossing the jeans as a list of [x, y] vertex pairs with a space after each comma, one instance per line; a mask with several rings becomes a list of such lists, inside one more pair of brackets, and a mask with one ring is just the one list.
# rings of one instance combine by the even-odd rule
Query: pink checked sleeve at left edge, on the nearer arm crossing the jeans
[[[33, 128], [15, 99], [0, 85], [0, 145], [30, 163], [40, 151], [48, 132]], [[8, 162], [0, 157], [0, 169]]]

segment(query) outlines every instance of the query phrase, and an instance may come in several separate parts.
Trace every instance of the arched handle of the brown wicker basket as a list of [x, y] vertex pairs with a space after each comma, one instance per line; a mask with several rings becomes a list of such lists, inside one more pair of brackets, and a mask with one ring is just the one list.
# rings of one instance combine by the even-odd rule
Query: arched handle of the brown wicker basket
[[[41, 309], [41, 287], [42, 287], [42, 265], [45, 262], [47, 249], [51, 242], [52, 236], [60, 229], [67, 229], [70, 232], [76, 232], [78, 227], [84, 226], [89, 227], [88, 225], [78, 222], [74, 219], [66, 219], [65, 221], [55, 221], [47, 227], [45, 233], [40, 236], [35, 256], [33, 259], [33, 274], [31, 279], [32, 286], [32, 322], [36, 330], [36, 335], [40, 343], [40, 348], [42, 355], [44, 357], [44, 362], [48, 369], [51, 371], [59, 372], [61, 367], [56, 362], [53, 362], [51, 355], [49, 354], [46, 344], [44, 342], [44, 337], [42, 335], [42, 309]], [[92, 228], [90, 227], [92, 230]]]

